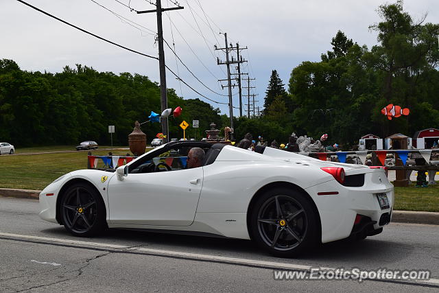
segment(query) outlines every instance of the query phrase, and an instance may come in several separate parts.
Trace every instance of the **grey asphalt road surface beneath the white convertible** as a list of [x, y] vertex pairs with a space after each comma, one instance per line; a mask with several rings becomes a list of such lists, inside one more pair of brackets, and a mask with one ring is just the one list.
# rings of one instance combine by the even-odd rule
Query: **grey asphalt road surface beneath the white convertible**
[[[69, 235], [38, 201], [0, 197], [0, 292], [438, 292], [439, 226], [390, 224], [361, 242], [279, 259], [250, 241], [110, 230]], [[422, 269], [430, 281], [274, 280], [274, 269]], [[308, 274], [309, 275], [309, 274]]]

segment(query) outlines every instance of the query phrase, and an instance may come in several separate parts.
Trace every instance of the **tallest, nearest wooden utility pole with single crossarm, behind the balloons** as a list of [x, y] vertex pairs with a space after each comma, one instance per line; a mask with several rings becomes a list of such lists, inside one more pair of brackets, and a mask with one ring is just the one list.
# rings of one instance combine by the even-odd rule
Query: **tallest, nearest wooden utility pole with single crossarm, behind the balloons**
[[[162, 25], [162, 12], [168, 10], [183, 9], [182, 6], [174, 8], [162, 8], [161, 0], [156, 0], [156, 9], [138, 11], [137, 14], [156, 12], [157, 14], [157, 41], [158, 41], [158, 67], [160, 69], [160, 98], [161, 98], [161, 111], [167, 109], [167, 93], [166, 93], [166, 67], [165, 67], [165, 52], [163, 51], [163, 25]], [[162, 132], [165, 134], [164, 141], [169, 141], [169, 128], [167, 118], [161, 118]]]

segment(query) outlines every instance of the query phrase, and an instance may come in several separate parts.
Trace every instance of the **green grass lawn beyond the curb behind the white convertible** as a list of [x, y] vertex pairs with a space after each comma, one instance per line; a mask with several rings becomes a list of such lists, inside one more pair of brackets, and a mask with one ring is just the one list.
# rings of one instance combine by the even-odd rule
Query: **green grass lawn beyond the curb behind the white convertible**
[[[23, 152], [40, 152], [51, 150], [71, 150], [71, 146], [54, 146], [47, 148], [27, 148]], [[105, 148], [100, 147], [99, 148]], [[128, 150], [112, 150], [115, 155], [125, 155]], [[125, 147], [126, 148], [126, 147]], [[150, 150], [150, 149], [147, 149]], [[20, 151], [21, 152], [21, 151]], [[17, 154], [20, 153], [17, 150]], [[22, 153], [23, 153], [22, 152]], [[108, 150], [91, 151], [92, 154], [106, 155]], [[97, 167], [104, 167], [102, 160]], [[55, 154], [33, 154], [21, 156], [0, 156], [0, 188], [38, 189], [41, 190], [53, 180], [78, 169], [87, 168], [87, 152], [66, 152]], [[395, 207], [403, 211], [439, 212], [439, 184], [429, 187], [395, 187]]]

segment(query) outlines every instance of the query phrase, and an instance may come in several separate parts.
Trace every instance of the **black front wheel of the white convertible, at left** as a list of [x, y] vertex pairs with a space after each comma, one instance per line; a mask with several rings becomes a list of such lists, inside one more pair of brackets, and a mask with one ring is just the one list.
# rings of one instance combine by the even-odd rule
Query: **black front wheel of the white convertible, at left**
[[105, 204], [97, 191], [84, 183], [67, 189], [60, 211], [64, 227], [75, 236], [89, 237], [106, 229]]

